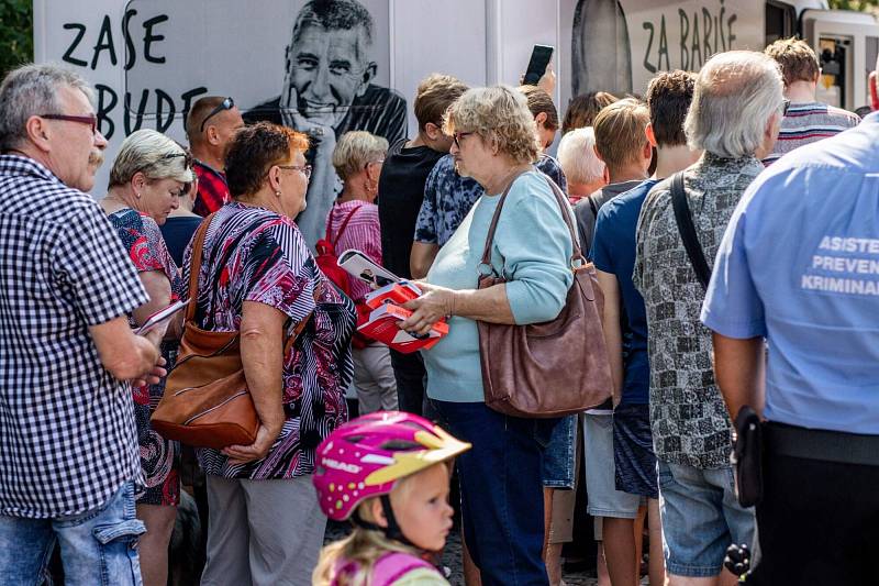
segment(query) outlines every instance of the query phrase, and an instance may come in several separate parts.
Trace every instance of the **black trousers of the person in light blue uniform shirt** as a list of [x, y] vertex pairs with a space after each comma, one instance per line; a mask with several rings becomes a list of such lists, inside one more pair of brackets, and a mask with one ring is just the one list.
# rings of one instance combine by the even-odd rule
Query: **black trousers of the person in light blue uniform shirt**
[[757, 507], [761, 560], [746, 584], [879, 585], [879, 466], [772, 454]]

